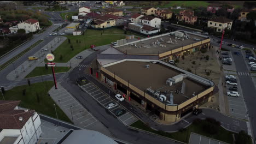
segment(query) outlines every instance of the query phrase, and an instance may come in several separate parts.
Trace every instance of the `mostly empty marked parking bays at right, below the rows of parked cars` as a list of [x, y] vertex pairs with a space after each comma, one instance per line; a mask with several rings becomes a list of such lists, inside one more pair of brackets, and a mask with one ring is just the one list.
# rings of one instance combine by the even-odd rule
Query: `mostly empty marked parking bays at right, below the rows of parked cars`
[[[240, 94], [240, 97], [232, 97], [227, 95], [229, 101], [229, 113], [236, 118], [248, 119], [245, 100], [243, 99], [238, 77], [236, 77], [236, 81], [237, 92]], [[232, 87], [232, 85], [226, 85], [226, 92], [230, 92], [230, 87]]]

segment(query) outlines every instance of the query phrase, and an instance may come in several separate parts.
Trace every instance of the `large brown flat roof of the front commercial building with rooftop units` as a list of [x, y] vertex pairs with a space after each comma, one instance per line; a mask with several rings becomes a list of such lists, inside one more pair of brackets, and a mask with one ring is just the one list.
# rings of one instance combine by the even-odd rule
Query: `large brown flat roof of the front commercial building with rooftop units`
[[[162, 62], [164, 63], [164, 62]], [[129, 81], [131, 85], [145, 91], [147, 88], [153, 89], [153, 91], [167, 92], [165, 96], [167, 100], [170, 100], [170, 93], [173, 94], [173, 104], [181, 104], [184, 101], [194, 97], [193, 93], [196, 95], [205, 91], [210, 86], [203, 85], [188, 77], [183, 77], [183, 81], [177, 82], [172, 86], [167, 86], [166, 81], [169, 78], [177, 76], [179, 74], [185, 74], [183, 71], [179, 71], [178, 68], [174, 69], [168, 67], [161, 62], [158, 64], [153, 64], [152, 62], [142, 62], [142, 61], [123, 61], [116, 64], [108, 64], [103, 66], [105, 69], [109, 70], [115, 75], [119, 76], [125, 81]], [[149, 68], [146, 68], [149, 65]], [[186, 72], [188, 73], [188, 72]], [[199, 76], [197, 76], [198, 79]], [[199, 78], [200, 79], [200, 78]], [[203, 77], [201, 77], [204, 81]], [[181, 92], [183, 82], [185, 83], [184, 95], [181, 93], [176, 93], [178, 90]]]

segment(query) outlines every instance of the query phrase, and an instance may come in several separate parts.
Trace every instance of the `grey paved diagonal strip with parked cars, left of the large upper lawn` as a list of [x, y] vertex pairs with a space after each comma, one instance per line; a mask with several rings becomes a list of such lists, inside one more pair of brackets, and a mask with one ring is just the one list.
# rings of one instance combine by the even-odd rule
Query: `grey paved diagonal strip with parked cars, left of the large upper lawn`
[[[50, 41], [50, 43], [48, 43], [47, 45], [43, 46], [42, 49], [48, 49], [48, 51], [38, 51], [36, 53], [34, 53], [33, 56], [38, 57], [37, 60], [34, 61], [25, 61], [24, 63], [22, 63], [21, 65], [19, 65], [19, 67], [16, 67], [16, 65], [14, 65], [15, 70], [11, 71], [8, 75], [7, 75], [7, 79], [11, 80], [11, 81], [15, 81], [15, 80], [22, 80], [24, 79], [24, 77], [26, 77], [26, 75], [28, 75], [34, 68], [38, 67], [38, 65], [40, 63], [45, 64], [44, 59], [45, 59], [45, 55], [47, 53], [50, 53], [50, 51], [54, 51], [57, 47], [59, 47], [63, 41], [65, 41], [67, 38], [66, 37], [60, 37], [60, 40], [58, 40], [58, 37], [55, 37], [53, 40]], [[36, 47], [40, 46], [40, 44], [38, 44]], [[53, 47], [53, 48], [51, 48]], [[25, 54], [26, 55], [26, 54]], [[18, 78], [16, 78], [16, 74], [18, 75]]]

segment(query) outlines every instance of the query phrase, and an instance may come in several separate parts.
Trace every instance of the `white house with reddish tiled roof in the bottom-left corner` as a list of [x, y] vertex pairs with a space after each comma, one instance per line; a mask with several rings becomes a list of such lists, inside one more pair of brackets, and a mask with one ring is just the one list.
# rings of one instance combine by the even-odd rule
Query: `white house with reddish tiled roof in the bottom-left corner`
[[34, 110], [19, 109], [20, 100], [0, 100], [0, 143], [37, 143], [42, 130]]

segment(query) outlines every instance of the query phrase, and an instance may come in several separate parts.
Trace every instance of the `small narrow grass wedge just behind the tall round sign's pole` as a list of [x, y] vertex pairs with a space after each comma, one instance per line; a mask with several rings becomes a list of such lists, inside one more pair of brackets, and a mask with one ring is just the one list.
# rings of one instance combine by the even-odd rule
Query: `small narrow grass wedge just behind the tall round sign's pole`
[[[54, 71], [55, 73], [62, 73], [68, 71], [69, 69], [70, 68], [68, 67], [55, 67]], [[52, 74], [51, 67], [48, 67], [48, 69], [45, 69], [45, 67], [36, 67], [25, 78], [49, 74]]]

